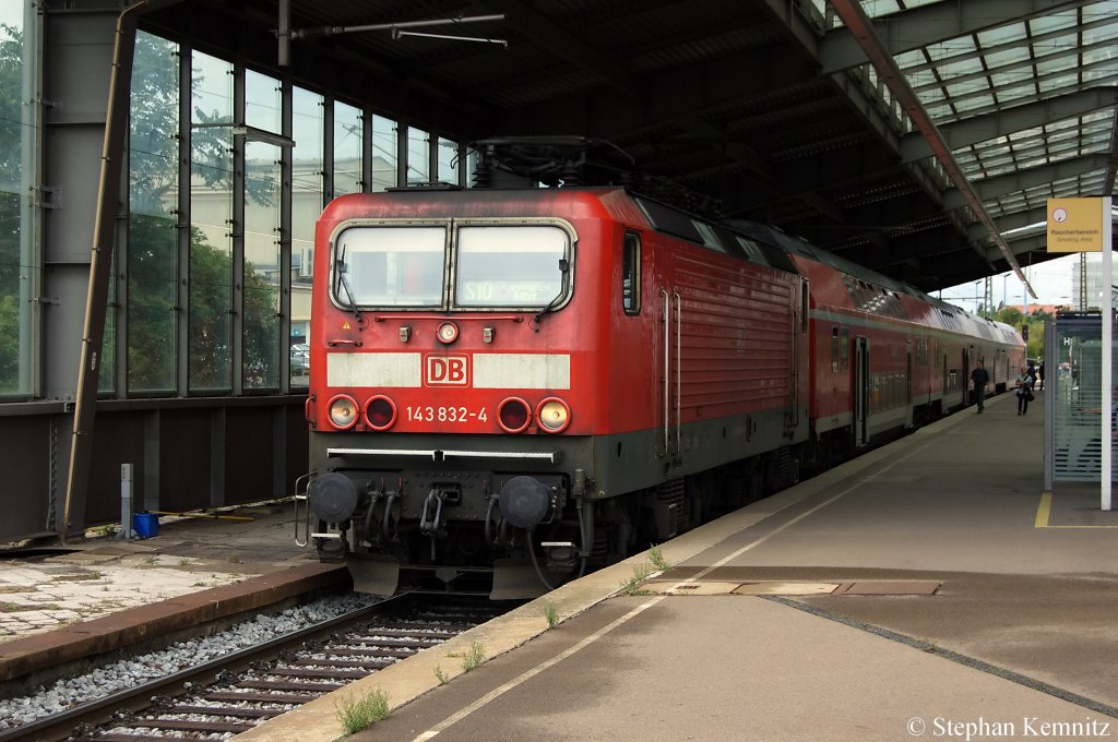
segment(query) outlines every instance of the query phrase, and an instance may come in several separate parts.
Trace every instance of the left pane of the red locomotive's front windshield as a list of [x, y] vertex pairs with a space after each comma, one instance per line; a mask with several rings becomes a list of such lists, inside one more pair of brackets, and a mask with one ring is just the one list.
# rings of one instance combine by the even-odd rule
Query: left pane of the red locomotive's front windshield
[[351, 227], [334, 247], [334, 301], [342, 306], [440, 306], [446, 230]]

